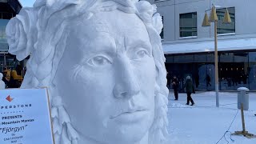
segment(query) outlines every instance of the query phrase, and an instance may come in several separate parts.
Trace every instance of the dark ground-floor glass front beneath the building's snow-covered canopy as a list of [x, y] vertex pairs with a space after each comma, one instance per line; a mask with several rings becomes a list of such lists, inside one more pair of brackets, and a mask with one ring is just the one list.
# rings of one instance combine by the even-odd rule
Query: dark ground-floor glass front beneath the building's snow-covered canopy
[[[214, 52], [166, 55], [166, 70], [176, 75], [182, 84], [190, 75], [197, 90], [214, 90]], [[256, 51], [218, 52], [219, 90], [247, 87], [256, 90]], [[181, 89], [182, 90], [182, 89]]]

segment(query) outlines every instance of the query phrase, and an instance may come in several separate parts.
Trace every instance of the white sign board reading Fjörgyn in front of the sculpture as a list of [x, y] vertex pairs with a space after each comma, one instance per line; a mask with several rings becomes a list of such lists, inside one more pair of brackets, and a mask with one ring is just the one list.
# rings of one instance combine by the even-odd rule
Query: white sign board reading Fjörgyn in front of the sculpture
[[0, 144], [54, 144], [44, 89], [0, 90]]

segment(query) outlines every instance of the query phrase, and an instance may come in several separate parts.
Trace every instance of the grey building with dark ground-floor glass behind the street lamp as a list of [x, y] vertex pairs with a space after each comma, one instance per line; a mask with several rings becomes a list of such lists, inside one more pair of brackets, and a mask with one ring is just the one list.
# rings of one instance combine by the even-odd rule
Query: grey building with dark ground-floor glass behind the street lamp
[[[197, 90], [214, 90], [214, 23], [202, 27], [212, 5], [218, 15], [219, 90], [256, 90], [255, 0], [148, 0], [162, 15], [166, 70], [182, 84], [187, 75]], [[231, 23], [223, 24], [226, 9]]]

